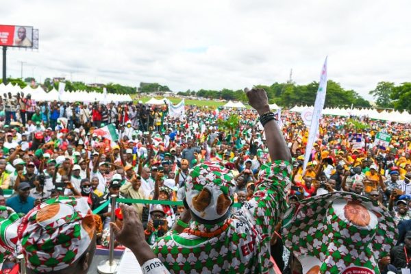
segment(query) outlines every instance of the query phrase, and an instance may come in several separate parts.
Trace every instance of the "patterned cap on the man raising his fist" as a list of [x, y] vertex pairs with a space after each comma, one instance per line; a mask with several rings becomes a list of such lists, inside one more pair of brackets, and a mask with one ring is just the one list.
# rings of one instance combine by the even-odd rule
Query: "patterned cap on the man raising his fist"
[[218, 223], [227, 218], [236, 183], [219, 163], [198, 164], [186, 178], [186, 205], [199, 223]]

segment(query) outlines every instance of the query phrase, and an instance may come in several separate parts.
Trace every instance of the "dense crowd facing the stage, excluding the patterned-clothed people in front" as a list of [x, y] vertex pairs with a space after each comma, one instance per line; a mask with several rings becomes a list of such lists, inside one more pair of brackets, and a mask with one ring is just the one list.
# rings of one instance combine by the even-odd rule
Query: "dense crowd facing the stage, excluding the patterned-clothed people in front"
[[[91, 210], [123, 199], [181, 201], [190, 168], [219, 161], [236, 180], [234, 199], [245, 203], [253, 195], [257, 174], [269, 162], [264, 130], [253, 110], [217, 110], [186, 106], [184, 116], [171, 117], [167, 105], [139, 103], [36, 102], [29, 95], [3, 95], [0, 101], [0, 196], [24, 216], [51, 197], [82, 196]], [[219, 123], [238, 116], [236, 127]], [[282, 131], [292, 155], [292, 187], [288, 203], [327, 192], [353, 192], [388, 210], [399, 225], [397, 247], [379, 262], [384, 271], [399, 271], [411, 254], [411, 127], [409, 124], [353, 117], [323, 116], [306, 170], [308, 127], [299, 113], [281, 114]], [[105, 140], [98, 130], [114, 125], [118, 140]], [[374, 145], [382, 132], [392, 136], [387, 147]], [[353, 134], [362, 134], [359, 142]], [[145, 227], [149, 244], [163, 236], [184, 206], [132, 203]], [[110, 216], [123, 216], [110, 203], [99, 210], [99, 243], [108, 246]], [[238, 210], [233, 207], [233, 213]], [[279, 269], [290, 271], [292, 256], [283, 252], [280, 226], [271, 240]], [[117, 245], [117, 243], [116, 243]], [[394, 267], [394, 268], [393, 268]]]

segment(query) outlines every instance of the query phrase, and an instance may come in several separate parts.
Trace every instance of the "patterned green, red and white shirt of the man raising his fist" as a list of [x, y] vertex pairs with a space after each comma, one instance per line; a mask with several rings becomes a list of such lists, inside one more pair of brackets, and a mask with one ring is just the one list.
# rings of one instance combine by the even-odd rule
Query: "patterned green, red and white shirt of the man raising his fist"
[[272, 182], [263, 181], [252, 199], [223, 223], [190, 223], [190, 229], [214, 232], [223, 224], [227, 229], [212, 238], [183, 232], [159, 238], [153, 251], [171, 273], [268, 273], [270, 240], [274, 227], [285, 212], [284, 186], [290, 184], [292, 166], [288, 162], [272, 164]]

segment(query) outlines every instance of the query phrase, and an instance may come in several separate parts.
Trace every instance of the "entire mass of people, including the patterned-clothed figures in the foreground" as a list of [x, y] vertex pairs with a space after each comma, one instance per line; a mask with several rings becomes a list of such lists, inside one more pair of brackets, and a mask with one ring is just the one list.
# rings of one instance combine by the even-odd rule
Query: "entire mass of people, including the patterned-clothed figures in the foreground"
[[[303, 169], [309, 128], [295, 112], [275, 121], [264, 95], [247, 91], [253, 109], [187, 105], [179, 117], [166, 104], [3, 95], [0, 222], [14, 226], [0, 229], [3, 267], [23, 253], [32, 273], [86, 273], [114, 229], [116, 246], [171, 273], [269, 273], [271, 258], [284, 273], [409, 269], [410, 125], [323, 116]], [[236, 127], [219, 123], [232, 115]], [[99, 134], [106, 125], [118, 140]], [[112, 195], [184, 205], [112, 208]]]

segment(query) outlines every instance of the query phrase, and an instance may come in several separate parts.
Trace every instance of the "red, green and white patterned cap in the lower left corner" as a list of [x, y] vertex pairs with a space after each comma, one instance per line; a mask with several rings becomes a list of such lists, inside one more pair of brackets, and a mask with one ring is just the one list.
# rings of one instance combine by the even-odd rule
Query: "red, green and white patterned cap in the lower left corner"
[[27, 268], [37, 273], [65, 269], [88, 249], [95, 219], [85, 199], [56, 197], [36, 206], [18, 226]]

